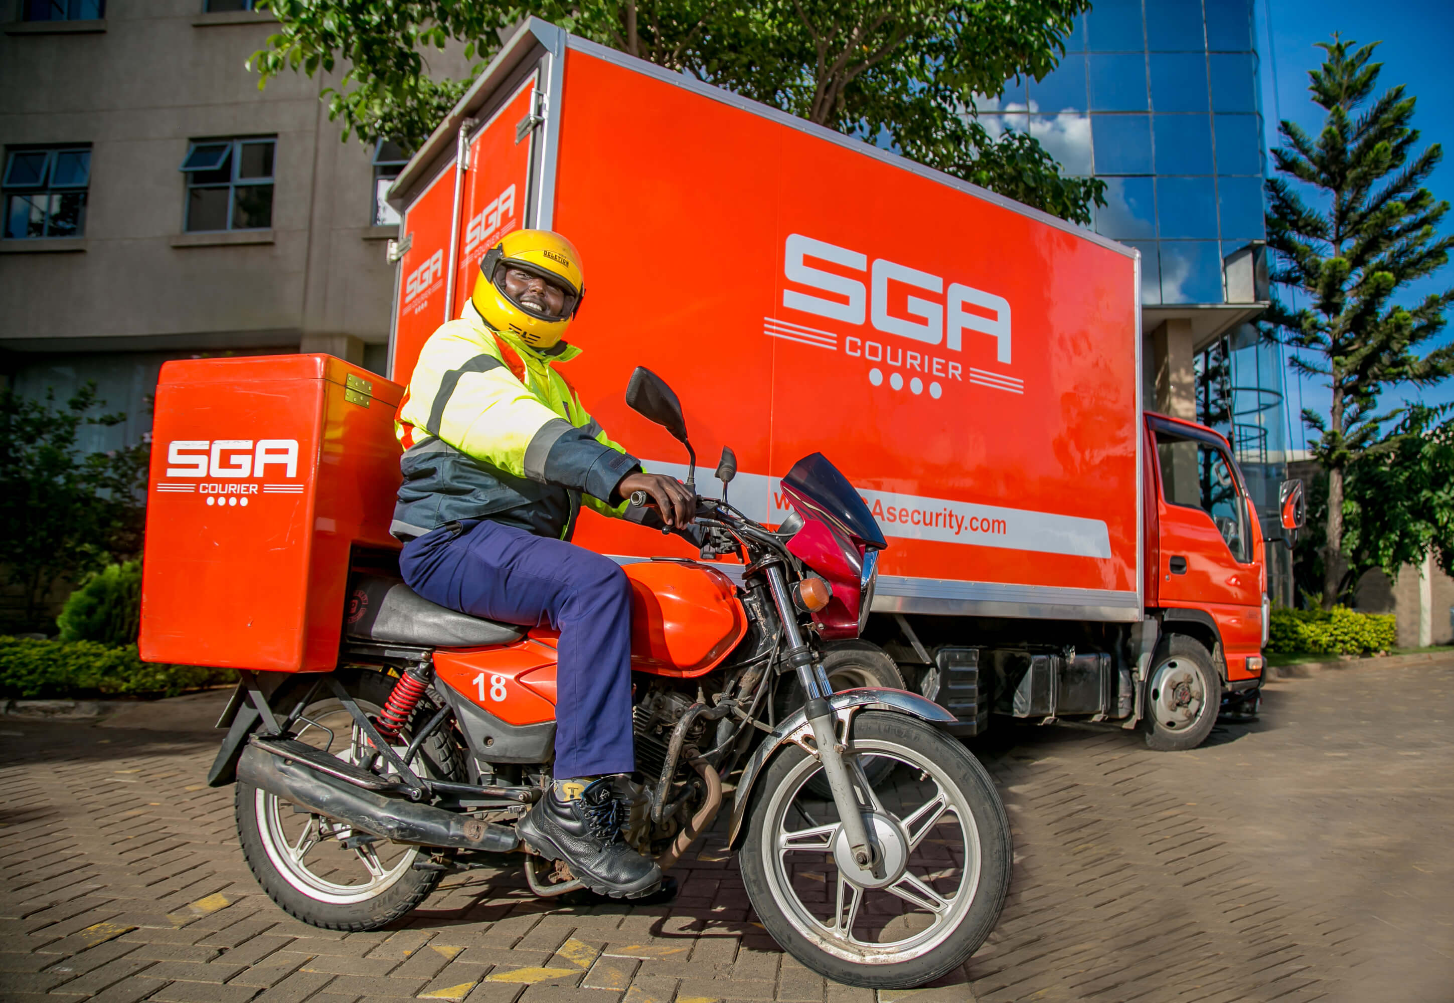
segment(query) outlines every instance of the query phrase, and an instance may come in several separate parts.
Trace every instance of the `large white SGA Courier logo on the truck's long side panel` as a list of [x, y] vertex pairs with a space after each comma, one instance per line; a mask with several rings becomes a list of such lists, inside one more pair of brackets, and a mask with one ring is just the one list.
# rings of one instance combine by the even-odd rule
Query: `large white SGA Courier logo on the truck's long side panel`
[[[810, 260], [843, 270], [829, 272]], [[867, 275], [868, 282], [852, 273]], [[949, 282], [947, 289], [942, 276], [885, 257], [877, 257], [869, 265], [868, 254], [803, 234], [790, 234], [784, 244], [782, 276], [792, 285], [829, 294], [822, 297], [784, 288], [782, 305], [858, 327], [858, 331], [843, 337], [842, 350], [845, 355], [885, 365], [890, 369], [891, 390], [901, 390], [907, 376], [909, 391], [916, 395], [925, 391], [928, 379], [929, 397], [933, 398], [939, 398], [945, 387], [954, 382], [971, 382], [1012, 394], [1025, 392], [1025, 381], [1006, 372], [965, 368], [958, 359], [947, 359], [919, 346], [910, 349], [894, 342], [880, 342], [872, 336], [872, 331], [883, 331], [922, 346], [963, 352], [965, 331], [987, 334], [995, 339], [995, 362], [1008, 366], [1013, 356], [1013, 334], [1011, 305], [1005, 297], [963, 282]], [[900, 292], [900, 286], [907, 288], [907, 294]], [[900, 304], [901, 308], [896, 313]], [[865, 323], [871, 323], [869, 331], [862, 330]], [[776, 317], [763, 318], [763, 333], [830, 352], [839, 350], [838, 333]], [[883, 369], [872, 366], [868, 382], [880, 387], [884, 382]]]

